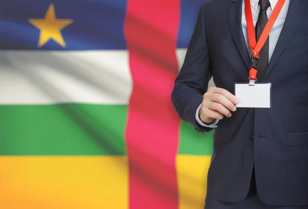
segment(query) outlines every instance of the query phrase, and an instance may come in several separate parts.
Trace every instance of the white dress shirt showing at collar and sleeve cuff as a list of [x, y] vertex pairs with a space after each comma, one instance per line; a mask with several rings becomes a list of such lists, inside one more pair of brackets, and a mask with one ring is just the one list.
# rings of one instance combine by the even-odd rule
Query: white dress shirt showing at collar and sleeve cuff
[[[274, 49], [276, 47], [280, 32], [282, 30], [282, 27], [283, 27], [283, 24], [284, 24], [284, 21], [285, 21], [285, 17], [286, 17], [286, 14], [287, 14], [288, 6], [290, 5], [290, 1], [291, 0], [285, 0], [285, 3], [284, 3], [284, 5], [283, 5], [278, 17], [277, 17], [277, 20], [276, 20], [271, 32], [269, 33], [268, 61], [271, 60], [271, 58], [272, 58]], [[243, 0], [243, 4], [242, 4], [242, 29], [243, 29], [243, 34], [244, 34], [244, 38], [245, 38], [245, 41], [246, 41], [247, 49], [249, 51], [249, 54], [252, 54], [253, 50], [250, 47], [249, 41], [248, 41], [244, 2], [245, 1]], [[252, 13], [253, 13], [254, 26], [256, 26], [256, 23], [258, 21], [259, 11], [260, 11], [259, 0], [250, 0], [250, 2], [251, 2]], [[266, 14], [267, 14], [268, 18], [269, 18], [269, 16], [271, 16], [273, 9], [275, 8], [277, 2], [278, 2], [278, 0], [269, 0], [269, 3], [271, 3], [271, 6], [268, 7], [268, 9], [266, 10]], [[199, 107], [196, 111], [196, 120], [198, 121], [198, 123], [202, 126], [205, 126], [205, 127], [216, 128], [217, 127], [216, 124], [218, 123], [218, 120], [214, 120], [210, 124], [205, 124], [200, 120], [200, 118], [199, 118], [200, 108], [201, 108], [201, 104], [199, 105]]]

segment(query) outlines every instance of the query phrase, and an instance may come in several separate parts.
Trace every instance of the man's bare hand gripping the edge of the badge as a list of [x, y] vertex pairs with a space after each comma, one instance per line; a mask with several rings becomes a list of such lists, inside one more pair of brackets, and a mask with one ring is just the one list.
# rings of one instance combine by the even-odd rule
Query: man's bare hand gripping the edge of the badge
[[231, 117], [231, 112], [236, 110], [239, 103], [237, 98], [223, 88], [210, 87], [203, 94], [200, 108], [200, 119], [204, 123], [211, 123], [215, 119], [221, 120], [223, 116]]

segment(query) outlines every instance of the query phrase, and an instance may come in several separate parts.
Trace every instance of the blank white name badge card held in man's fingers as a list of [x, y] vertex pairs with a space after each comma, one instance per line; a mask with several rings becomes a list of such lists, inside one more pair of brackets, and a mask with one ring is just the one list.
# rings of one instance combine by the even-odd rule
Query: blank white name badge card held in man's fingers
[[236, 107], [271, 108], [271, 83], [235, 84]]

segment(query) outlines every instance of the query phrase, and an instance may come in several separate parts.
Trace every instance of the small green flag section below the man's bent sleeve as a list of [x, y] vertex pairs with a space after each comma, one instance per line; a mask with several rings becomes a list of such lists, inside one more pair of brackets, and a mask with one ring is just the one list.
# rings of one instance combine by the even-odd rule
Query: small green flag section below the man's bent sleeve
[[181, 155], [211, 155], [213, 153], [213, 131], [201, 134], [188, 123], [182, 122], [180, 129]]

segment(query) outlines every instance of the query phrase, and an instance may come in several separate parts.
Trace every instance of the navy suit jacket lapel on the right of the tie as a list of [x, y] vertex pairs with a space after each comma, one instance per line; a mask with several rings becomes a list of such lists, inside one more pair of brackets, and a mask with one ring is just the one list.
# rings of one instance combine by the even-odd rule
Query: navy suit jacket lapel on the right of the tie
[[287, 12], [287, 15], [284, 21], [283, 28], [281, 30], [275, 50], [273, 52], [271, 61], [269, 61], [268, 63], [268, 67], [266, 69], [263, 80], [266, 78], [269, 72], [271, 72], [274, 65], [278, 61], [281, 53], [286, 47], [287, 43], [290, 41], [291, 37], [293, 36], [297, 26], [302, 20], [302, 16], [304, 12], [306, 11], [306, 8], [308, 5], [307, 3], [308, 3], [307, 0], [291, 0], [290, 1], [290, 6], [288, 8], [288, 12]]

